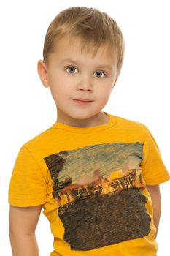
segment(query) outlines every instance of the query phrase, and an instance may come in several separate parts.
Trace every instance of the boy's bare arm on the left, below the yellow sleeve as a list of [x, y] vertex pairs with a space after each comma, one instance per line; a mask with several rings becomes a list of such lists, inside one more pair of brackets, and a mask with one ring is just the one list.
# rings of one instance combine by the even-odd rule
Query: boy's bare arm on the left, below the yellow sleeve
[[39, 256], [35, 230], [41, 209], [42, 206], [10, 206], [9, 235], [13, 256]]

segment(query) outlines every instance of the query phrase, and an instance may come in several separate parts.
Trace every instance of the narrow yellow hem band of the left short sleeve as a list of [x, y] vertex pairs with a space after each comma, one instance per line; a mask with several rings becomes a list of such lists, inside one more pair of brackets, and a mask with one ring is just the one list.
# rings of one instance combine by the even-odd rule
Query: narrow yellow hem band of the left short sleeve
[[8, 203], [11, 206], [17, 206], [17, 207], [29, 207], [29, 206], [39, 206], [45, 204], [45, 198], [40, 198], [40, 199], [29, 199], [27, 198], [26, 200], [20, 200], [17, 198], [12, 198], [9, 197]]

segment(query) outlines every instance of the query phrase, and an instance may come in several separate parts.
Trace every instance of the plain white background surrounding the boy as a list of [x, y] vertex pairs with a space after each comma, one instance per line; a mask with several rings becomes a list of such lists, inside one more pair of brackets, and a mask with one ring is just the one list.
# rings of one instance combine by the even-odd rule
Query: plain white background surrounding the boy
[[[1, 172], [0, 255], [12, 255], [9, 244], [8, 187], [15, 158], [23, 143], [56, 120], [50, 89], [39, 80], [47, 27], [55, 15], [71, 6], [96, 7], [117, 20], [125, 38], [122, 73], [105, 111], [147, 125], [170, 170], [169, 144], [169, 1], [0, 1]], [[169, 250], [169, 182], [161, 184], [162, 215], [158, 256]], [[50, 255], [53, 237], [42, 214], [36, 229], [41, 256]]]

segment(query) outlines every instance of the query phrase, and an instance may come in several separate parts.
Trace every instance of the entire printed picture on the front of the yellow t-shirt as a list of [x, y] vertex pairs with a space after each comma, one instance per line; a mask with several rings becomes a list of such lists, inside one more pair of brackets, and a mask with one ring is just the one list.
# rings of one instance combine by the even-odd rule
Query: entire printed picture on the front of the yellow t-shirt
[[96, 249], [150, 233], [142, 159], [139, 142], [96, 144], [45, 157], [71, 249]]

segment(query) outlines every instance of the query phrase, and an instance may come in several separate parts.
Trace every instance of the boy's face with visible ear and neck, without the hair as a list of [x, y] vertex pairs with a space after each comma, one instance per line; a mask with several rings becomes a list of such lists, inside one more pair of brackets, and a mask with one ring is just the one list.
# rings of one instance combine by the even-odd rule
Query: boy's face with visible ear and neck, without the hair
[[107, 50], [106, 45], [102, 46], [93, 57], [85, 50], [81, 53], [79, 39], [63, 38], [50, 53], [48, 65], [38, 62], [42, 83], [50, 86], [55, 100], [58, 122], [85, 126], [91, 118], [104, 114], [101, 110], [118, 77], [117, 53], [111, 55]]

